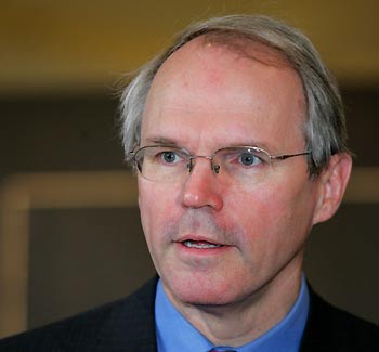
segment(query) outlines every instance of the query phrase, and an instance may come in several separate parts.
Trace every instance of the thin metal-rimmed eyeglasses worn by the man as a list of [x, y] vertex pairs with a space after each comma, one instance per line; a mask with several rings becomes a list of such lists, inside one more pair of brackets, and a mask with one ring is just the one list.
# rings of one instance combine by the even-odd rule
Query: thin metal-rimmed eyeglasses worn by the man
[[210, 161], [211, 171], [218, 177], [257, 183], [267, 178], [275, 161], [310, 155], [311, 152], [270, 155], [258, 146], [231, 146], [215, 151], [212, 156], [202, 156], [191, 155], [172, 145], [147, 145], [130, 154], [142, 177], [155, 182], [180, 182], [193, 171], [195, 159], [204, 158]]

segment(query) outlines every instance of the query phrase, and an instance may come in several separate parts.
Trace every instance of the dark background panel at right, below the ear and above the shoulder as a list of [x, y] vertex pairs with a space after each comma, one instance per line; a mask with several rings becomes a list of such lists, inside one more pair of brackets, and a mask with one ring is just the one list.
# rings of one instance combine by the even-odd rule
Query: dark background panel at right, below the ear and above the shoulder
[[342, 204], [309, 237], [305, 272], [335, 305], [379, 323], [379, 204]]

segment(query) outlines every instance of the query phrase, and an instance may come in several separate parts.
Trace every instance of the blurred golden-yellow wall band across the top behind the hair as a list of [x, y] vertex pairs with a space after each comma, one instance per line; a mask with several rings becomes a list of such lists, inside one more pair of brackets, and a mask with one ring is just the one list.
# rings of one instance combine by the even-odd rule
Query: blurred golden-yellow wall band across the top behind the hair
[[104, 90], [190, 22], [238, 12], [302, 28], [344, 82], [379, 81], [376, 0], [13, 0], [0, 4], [0, 94]]

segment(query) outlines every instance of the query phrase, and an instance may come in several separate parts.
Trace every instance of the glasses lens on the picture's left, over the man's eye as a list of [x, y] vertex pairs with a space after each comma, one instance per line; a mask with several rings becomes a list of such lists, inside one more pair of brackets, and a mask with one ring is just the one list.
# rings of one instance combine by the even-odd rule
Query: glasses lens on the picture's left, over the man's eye
[[141, 174], [151, 181], [174, 182], [188, 171], [188, 155], [172, 146], [145, 146], [135, 154]]

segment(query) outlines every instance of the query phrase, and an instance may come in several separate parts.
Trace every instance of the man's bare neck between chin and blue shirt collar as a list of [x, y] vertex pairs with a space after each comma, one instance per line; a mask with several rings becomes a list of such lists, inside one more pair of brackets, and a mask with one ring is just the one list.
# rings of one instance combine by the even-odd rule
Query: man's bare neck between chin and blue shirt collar
[[301, 263], [286, 275], [282, 274], [252, 296], [225, 305], [183, 304], [169, 297], [182, 315], [212, 343], [238, 347], [271, 329], [295, 304], [301, 285]]

